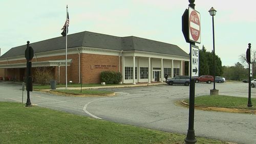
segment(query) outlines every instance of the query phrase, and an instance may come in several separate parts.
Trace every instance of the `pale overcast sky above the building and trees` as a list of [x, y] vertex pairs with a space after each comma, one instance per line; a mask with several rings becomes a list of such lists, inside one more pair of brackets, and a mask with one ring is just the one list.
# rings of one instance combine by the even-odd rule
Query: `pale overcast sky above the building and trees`
[[[188, 0], [1, 0], [1, 55], [12, 47], [61, 36], [68, 5], [69, 34], [90, 31], [114, 36], [137, 36], [176, 44], [189, 53], [181, 29], [181, 16]], [[256, 49], [254, 0], [196, 0], [201, 15], [201, 44], [212, 51], [212, 19], [217, 10], [215, 52], [222, 65], [239, 62], [248, 43]]]

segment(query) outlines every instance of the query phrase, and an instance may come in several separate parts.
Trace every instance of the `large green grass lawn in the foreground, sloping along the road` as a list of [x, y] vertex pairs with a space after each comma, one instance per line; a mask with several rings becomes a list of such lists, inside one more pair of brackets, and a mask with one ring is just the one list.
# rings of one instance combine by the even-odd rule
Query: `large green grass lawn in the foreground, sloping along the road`
[[0, 143], [184, 143], [186, 137], [20, 103], [0, 102], [0, 109]]

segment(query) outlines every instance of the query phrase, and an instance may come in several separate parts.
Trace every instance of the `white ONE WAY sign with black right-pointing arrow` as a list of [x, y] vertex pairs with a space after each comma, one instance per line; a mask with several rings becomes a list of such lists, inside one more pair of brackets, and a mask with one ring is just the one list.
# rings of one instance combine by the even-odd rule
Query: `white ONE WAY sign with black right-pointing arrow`
[[199, 73], [199, 49], [198, 46], [191, 44], [190, 47], [190, 76], [197, 78]]

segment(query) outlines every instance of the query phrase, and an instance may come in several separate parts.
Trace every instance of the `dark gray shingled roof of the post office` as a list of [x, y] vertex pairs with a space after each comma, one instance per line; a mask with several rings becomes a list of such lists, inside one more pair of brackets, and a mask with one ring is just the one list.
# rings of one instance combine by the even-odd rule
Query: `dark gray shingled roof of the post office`
[[[34, 53], [61, 50], [66, 48], [66, 37], [56, 37], [34, 42], [30, 46], [33, 47]], [[144, 51], [189, 57], [186, 52], [174, 44], [134, 36], [117, 37], [87, 31], [68, 35], [68, 49], [79, 46], [117, 51]], [[0, 58], [24, 55], [25, 49], [26, 45], [13, 47]]]

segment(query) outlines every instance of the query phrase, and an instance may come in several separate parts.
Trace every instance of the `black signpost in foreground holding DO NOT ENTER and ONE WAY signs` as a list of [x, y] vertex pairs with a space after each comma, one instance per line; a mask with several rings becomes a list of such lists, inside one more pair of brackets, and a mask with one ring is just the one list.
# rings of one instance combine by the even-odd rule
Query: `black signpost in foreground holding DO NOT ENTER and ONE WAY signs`
[[190, 85], [189, 85], [189, 116], [187, 136], [185, 143], [196, 143], [194, 130], [195, 113], [195, 78], [199, 74], [199, 49], [195, 43], [201, 43], [200, 13], [195, 10], [195, 0], [189, 0], [190, 4], [182, 15], [182, 33], [186, 42], [190, 43]]

